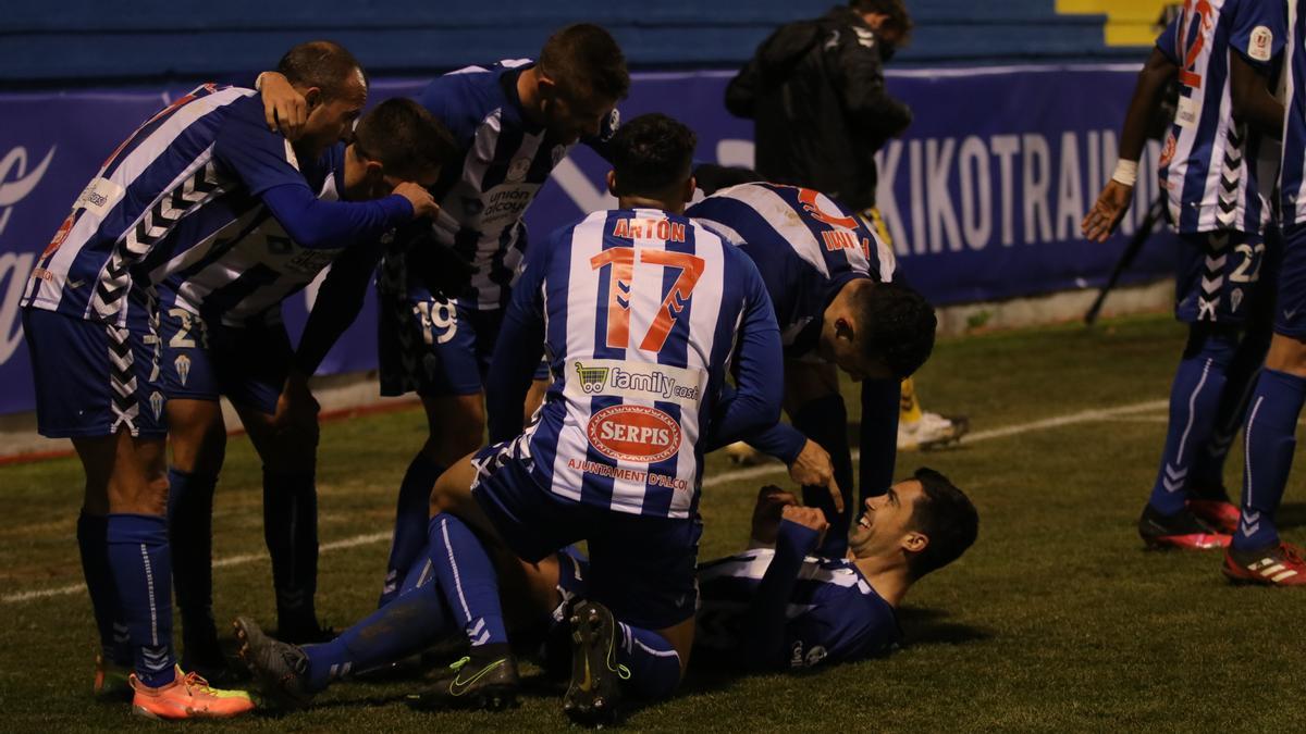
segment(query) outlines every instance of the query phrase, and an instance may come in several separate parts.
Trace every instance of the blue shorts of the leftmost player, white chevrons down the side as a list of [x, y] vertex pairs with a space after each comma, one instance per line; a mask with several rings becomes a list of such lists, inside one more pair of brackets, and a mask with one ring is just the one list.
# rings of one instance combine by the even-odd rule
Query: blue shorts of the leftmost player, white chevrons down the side
[[148, 320], [118, 328], [43, 308], [22, 310], [37, 385], [37, 431], [51, 439], [163, 438], [158, 338]]

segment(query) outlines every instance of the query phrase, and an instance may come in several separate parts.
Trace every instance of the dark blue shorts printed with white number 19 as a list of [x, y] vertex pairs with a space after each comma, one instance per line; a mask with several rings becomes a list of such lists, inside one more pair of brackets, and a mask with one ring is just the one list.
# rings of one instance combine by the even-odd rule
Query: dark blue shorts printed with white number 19
[[[444, 397], [485, 389], [503, 310], [481, 311], [454, 300], [384, 293], [377, 304], [381, 394]], [[541, 354], [543, 350], [539, 345]], [[547, 376], [549, 364], [541, 360], [535, 379]]]

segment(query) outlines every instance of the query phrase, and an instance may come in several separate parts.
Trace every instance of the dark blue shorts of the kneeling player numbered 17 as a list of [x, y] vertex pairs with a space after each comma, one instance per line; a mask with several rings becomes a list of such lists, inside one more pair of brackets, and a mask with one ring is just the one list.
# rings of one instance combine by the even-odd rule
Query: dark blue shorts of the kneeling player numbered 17
[[589, 598], [628, 624], [662, 630], [693, 616], [703, 521], [613, 512], [555, 495], [530, 475], [515, 441], [473, 460], [471, 495], [508, 547], [535, 563], [572, 543], [589, 545]]

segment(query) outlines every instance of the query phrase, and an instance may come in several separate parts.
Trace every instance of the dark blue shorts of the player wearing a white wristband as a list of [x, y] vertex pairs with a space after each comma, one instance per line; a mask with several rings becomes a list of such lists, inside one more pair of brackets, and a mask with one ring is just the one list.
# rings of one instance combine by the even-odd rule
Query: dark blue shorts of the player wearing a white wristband
[[1281, 248], [1238, 231], [1179, 235], [1174, 315], [1186, 324], [1245, 327], [1273, 298]]

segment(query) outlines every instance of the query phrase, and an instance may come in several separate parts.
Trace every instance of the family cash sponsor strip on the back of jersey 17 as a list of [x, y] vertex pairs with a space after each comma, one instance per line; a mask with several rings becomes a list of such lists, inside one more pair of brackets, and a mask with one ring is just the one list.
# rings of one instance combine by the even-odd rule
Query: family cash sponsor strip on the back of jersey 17
[[567, 380], [567, 396], [576, 400], [610, 396], [697, 407], [708, 379], [703, 370], [624, 359], [577, 360], [572, 368], [576, 379]]

